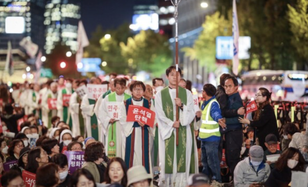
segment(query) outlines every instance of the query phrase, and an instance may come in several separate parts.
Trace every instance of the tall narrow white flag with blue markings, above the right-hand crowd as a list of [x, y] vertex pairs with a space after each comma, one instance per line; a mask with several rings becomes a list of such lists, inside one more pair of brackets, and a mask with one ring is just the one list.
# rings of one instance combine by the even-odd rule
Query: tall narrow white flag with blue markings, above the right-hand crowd
[[232, 10], [232, 37], [233, 37], [233, 66], [232, 71], [235, 75], [238, 74], [238, 38], [240, 37], [240, 31], [238, 29], [237, 21], [237, 11], [236, 11], [236, 2], [233, 0], [233, 10]]

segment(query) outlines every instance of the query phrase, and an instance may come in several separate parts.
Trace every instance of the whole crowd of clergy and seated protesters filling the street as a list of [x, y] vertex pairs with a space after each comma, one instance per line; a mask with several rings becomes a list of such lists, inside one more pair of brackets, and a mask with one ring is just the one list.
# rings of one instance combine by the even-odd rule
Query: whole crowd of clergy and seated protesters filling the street
[[[288, 186], [292, 171], [306, 171], [308, 130], [288, 122], [281, 136], [265, 88], [255, 95], [257, 110], [245, 115], [230, 74], [217, 88], [203, 86], [199, 107], [176, 66], [166, 70], [167, 86], [162, 78], [149, 85], [109, 76], [109, 82], [60, 76], [12, 90], [1, 84], [3, 187], [28, 187], [29, 173], [42, 187], [274, 187]], [[89, 85], [108, 89], [97, 99], [80, 95]]]

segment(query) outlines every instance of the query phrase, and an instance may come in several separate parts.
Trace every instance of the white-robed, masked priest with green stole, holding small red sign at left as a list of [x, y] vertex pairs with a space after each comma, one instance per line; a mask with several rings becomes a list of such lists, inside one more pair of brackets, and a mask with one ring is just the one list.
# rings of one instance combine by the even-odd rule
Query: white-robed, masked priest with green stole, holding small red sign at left
[[69, 100], [67, 100], [67, 98], [71, 97], [71, 94], [74, 93], [72, 89], [72, 82], [73, 79], [66, 79], [65, 88], [59, 90], [57, 98], [57, 115], [60, 117], [60, 121], [64, 121], [66, 124], [70, 125], [70, 128], [72, 128], [72, 120], [69, 113]]

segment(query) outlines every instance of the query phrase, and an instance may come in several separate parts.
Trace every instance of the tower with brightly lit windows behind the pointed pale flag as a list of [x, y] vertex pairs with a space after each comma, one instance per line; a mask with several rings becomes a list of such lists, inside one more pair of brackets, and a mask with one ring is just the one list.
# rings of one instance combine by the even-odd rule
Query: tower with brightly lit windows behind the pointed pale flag
[[58, 43], [69, 46], [73, 52], [76, 51], [78, 21], [81, 18], [80, 3], [80, 0], [47, 1], [44, 13], [46, 54], [50, 54]]

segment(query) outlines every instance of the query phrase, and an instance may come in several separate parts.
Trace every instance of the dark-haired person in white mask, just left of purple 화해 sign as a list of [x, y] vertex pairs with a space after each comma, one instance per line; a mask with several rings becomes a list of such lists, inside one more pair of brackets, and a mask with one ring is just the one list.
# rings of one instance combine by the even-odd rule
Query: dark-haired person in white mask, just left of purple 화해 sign
[[68, 161], [66, 155], [59, 153], [51, 157], [51, 163], [55, 163], [59, 169], [60, 184], [58, 187], [67, 187], [71, 180], [68, 174]]

